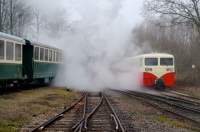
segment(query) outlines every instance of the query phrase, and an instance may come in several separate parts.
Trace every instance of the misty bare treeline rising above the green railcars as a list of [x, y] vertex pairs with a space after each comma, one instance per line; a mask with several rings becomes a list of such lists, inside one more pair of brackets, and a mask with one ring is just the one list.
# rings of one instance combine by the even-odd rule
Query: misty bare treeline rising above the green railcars
[[58, 37], [61, 31], [72, 30], [67, 22], [66, 9], [57, 7], [52, 12], [44, 12], [28, 2], [0, 0], [0, 32], [39, 40], [42, 32]]

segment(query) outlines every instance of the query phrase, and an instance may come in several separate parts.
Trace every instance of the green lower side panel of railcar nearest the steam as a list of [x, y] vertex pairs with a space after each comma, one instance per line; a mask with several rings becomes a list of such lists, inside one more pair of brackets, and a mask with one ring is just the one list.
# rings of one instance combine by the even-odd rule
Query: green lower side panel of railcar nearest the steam
[[60, 64], [49, 62], [34, 62], [33, 78], [50, 78], [55, 77], [58, 73]]

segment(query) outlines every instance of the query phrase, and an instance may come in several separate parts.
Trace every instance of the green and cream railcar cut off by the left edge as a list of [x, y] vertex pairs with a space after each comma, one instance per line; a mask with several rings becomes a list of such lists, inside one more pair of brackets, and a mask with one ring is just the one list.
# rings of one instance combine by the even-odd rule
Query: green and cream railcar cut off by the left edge
[[22, 50], [25, 40], [0, 32], [0, 87], [22, 78]]

